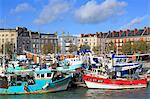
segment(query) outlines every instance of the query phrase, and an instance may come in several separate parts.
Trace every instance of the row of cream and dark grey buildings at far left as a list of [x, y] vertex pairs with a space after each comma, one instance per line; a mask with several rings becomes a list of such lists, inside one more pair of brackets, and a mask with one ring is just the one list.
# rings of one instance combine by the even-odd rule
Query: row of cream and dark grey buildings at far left
[[42, 53], [42, 47], [49, 44], [53, 47], [53, 52], [57, 53], [58, 39], [55, 34], [45, 34], [32, 32], [25, 27], [16, 29], [0, 29], [0, 53], [7, 43], [11, 43], [13, 51], [17, 54], [24, 54], [25, 51], [32, 53]]

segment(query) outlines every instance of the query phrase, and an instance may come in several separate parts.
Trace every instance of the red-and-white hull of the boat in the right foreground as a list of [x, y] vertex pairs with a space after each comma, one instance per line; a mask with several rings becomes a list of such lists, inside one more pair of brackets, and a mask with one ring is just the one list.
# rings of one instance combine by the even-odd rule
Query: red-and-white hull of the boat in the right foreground
[[147, 81], [141, 80], [113, 80], [92, 76], [83, 76], [88, 88], [99, 89], [130, 89], [130, 88], [145, 88]]

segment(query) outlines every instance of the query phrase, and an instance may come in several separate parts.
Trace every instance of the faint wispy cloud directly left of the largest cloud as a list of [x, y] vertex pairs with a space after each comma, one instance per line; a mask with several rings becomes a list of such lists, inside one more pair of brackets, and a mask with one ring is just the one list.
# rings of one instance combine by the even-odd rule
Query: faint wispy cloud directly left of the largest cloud
[[52, 22], [62, 17], [62, 14], [70, 9], [70, 5], [64, 0], [49, 0], [49, 3], [44, 6], [34, 23], [38, 25]]

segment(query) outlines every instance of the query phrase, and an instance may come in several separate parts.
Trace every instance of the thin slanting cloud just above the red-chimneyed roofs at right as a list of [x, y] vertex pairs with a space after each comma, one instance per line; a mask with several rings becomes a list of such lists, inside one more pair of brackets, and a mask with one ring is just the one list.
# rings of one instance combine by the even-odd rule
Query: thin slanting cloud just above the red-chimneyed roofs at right
[[122, 26], [120, 29], [130, 29], [132, 26], [142, 23], [147, 17], [148, 17], [148, 15], [145, 15], [142, 17], [136, 17], [136, 18], [132, 19], [126, 25]]

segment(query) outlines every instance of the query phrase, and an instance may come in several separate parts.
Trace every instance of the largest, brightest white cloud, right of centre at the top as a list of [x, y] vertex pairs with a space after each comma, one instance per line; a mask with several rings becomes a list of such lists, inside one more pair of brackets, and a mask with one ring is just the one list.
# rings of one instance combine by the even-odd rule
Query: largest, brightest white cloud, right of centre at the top
[[123, 14], [126, 5], [126, 2], [117, 0], [105, 0], [101, 4], [90, 0], [75, 11], [75, 17], [80, 23], [101, 23], [112, 16]]

